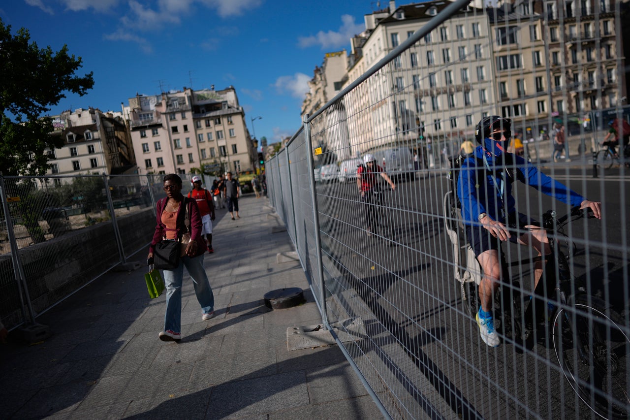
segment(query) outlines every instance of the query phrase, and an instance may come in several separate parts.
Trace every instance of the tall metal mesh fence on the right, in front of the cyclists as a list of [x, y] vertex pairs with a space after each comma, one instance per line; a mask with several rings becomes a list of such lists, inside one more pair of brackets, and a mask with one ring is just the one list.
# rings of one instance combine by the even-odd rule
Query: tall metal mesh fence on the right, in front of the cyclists
[[[345, 337], [338, 344], [386, 416], [627, 418], [629, 161], [623, 146], [617, 157], [599, 144], [630, 118], [622, 106], [627, 11], [613, 1], [547, 2], [544, 10], [467, 3], [401, 6], [387, 18], [398, 26], [374, 30], [361, 60], [389, 54], [265, 163], [270, 201], [324, 324]], [[419, 17], [432, 6], [437, 16]], [[462, 172], [451, 159], [466, 140], [478, 146], [474, 129], [487, 115], [512, 119], [508, 151], [522, 160], [500, 160], [498, 172], [479, 164], [476, 187], [499, 185], [493, 174], [515, 177], [515, 207], [544, 226], [544, 254], [553, 252], [541, 261], [511, 242], [496, 251], [501, 274], [489, 296], [498, 347], [484, 344], [476, 321], [486, 273], [462, 224], [458, 197], [470, 197], [458, 195]], [[361, 194], [357, 168], [367, 170], [367, 154], [380, 182]], [[602, 202], [602, 219], [576, 211], [565, 225], [571, 206], [534, 188], [547, 182], [542, 173]], [[539, 190], [559, 194], [556, 185]], [[474, 188], [471, 196], [482, 199]], [[468, 223], [481, 226], [476, 216]], [[529, 231], [514, 229], [515, 237]]]

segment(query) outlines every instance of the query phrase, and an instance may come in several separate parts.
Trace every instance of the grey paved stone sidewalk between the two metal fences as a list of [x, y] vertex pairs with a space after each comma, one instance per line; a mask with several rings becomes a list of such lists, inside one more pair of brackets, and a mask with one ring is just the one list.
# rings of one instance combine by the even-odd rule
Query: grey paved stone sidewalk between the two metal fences
[[[381, 418], [337, 346], [287, 351], [287, 328], [321, 317], [299, 262], [276, 262], [293, 247], [268, 200], [239, 204], [236, 221], [217, 212], [204, 259], [215, 318], [185, 275], [183, 339], [159, 341], [165, 297], [149, 299], [146, 268], [108, 272], [38, 318], [45, 342], [0, 345], [0, 419]], [[307, 303], [266, 308], [267, 291], [294, 286]]]

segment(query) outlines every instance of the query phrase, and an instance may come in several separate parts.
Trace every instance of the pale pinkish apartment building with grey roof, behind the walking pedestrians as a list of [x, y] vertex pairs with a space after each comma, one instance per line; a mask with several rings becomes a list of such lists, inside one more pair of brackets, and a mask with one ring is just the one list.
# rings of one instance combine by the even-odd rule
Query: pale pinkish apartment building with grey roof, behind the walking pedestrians
[[140, 174], [255, 167], [256, 150], [233, 86], [136, 95], [125, 114]]

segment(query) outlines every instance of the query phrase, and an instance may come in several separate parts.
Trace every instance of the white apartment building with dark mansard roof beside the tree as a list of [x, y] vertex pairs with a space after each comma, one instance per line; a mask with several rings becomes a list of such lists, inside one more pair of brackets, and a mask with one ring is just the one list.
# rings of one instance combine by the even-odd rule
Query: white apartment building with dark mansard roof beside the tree
[[78, 108], [52, 116], [52, 124], [52, 134], [62, 137], [64, 145], [47, 151], [47, 175], [135, 171], [134, 148], [121, 112]]

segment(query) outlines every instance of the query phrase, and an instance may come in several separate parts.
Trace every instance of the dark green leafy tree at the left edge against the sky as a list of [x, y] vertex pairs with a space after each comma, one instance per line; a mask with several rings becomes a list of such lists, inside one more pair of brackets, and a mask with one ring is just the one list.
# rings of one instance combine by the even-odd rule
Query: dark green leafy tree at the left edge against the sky
[[67, 46], [54, 52], [30, 42], [21, 28], [15, 35], [0, 20], [0, 171], [4, 175], [43, 175], [49, 168], [46, 148], [59, 148], [60, 137], [50, 136], [52, 122], [43, 117], [70, 91], [85, 95], [94, 86], [93, 72], [74, 73], [81, 57]]

